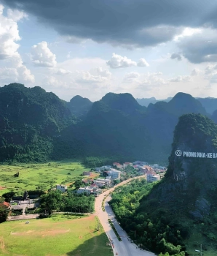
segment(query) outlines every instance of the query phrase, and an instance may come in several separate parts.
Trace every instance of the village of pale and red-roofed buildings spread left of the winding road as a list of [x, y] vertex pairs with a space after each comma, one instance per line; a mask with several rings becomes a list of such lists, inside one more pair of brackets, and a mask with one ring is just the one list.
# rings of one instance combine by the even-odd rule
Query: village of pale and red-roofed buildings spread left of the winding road
[[[122, 165], [119, 162], [114, 162], [113, 165], [103, 165], [90, 171], [84, 171], [82, 173], [84, 178], [80, 180], [81, 186], [76, 187], [73, 192], [77, 195], [98, 197], [119, 182], [135, 176], [146, 176], [147, 182], [159, 181], [165, 175], [166, 170], [166, 167], [157, 164], [149, 165], [148, 162], [142, 161], [124, 162]], [[96, 173], [98, 173], [98, 178], [94, 178]], [[71, 191], [73, 186], [74, 184], [69, 187], [65, 184], [57, 184], [52, 190], [67, 193], [68, 189]], [[28, 192], [25, 191], [23, 196], [13, 196], [9, 203], [4, 202], [3, 204], [11, 211], [8, 220], [28, 219], [27, 215], [39, 215], [37, 209], [40, 206], [40, 195], [28, 195]]]

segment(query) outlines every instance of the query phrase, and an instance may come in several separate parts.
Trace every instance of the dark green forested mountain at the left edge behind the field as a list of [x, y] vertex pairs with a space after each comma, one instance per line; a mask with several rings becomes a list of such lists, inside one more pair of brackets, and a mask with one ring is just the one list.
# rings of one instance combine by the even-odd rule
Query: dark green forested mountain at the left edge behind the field
[[52, 92], [19, 83], [0, 87], [0, 161], [46, 161], [52, 137], [75, 123], [76, 117]]

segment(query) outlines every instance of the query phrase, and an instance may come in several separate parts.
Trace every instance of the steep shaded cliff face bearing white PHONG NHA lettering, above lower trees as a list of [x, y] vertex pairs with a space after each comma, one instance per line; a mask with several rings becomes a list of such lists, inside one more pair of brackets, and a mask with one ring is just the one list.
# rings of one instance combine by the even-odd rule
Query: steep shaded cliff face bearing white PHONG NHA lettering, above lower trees
[[150, 197], [194, 219], [210, 214], [217, 191], [217, 126], [200, 114], [179, 118], [164, 180]]

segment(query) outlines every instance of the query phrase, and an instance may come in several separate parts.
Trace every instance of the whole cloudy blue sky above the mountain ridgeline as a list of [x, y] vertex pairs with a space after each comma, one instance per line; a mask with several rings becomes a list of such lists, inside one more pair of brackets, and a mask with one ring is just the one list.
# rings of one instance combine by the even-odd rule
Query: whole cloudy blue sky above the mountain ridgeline
[[213, 1], [0, 0], [0, 86], [217, 97]]

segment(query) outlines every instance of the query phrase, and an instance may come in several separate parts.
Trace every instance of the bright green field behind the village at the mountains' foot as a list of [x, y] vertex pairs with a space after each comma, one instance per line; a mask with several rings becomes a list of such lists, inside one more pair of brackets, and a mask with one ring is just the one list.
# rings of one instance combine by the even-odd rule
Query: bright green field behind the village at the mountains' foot
[[[80, 162], [50, 162], [46, 164], [0, 165], [0, 195], [17, 189], [49, 189], [56, 184], [70, 184], [85, 168]], [[14, 174], [20, 172], [20, 176]], [[96, 174], [97, 175], [97, 174]], [[2, 187], [7, 187], [6, 189]]]

